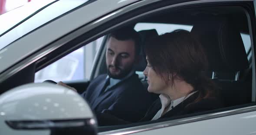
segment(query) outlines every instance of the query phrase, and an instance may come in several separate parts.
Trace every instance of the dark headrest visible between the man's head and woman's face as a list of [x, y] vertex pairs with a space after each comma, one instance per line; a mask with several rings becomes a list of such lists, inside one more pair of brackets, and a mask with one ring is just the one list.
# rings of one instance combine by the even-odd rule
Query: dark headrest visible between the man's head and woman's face
[[144, 44], [145, 41], [152, 37], [152, 36], [157, 36], [158, 32], [155, 29], [149, 29], [149, 30], [141, 30], [138, 32], [141, 35], [141, 50], [139, 54], [139, 62], [138, 64], [135, 65], [135, 71], [144, 71], [144, 69], [147, 66], [147, 61], [146, 61], [146, 55], [144, 54]]

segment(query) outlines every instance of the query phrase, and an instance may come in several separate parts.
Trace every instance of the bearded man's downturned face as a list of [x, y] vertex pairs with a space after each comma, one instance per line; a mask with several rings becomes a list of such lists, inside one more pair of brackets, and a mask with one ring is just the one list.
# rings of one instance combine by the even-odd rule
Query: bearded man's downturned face
[[114, 79], [125, 77], [135, 63], [135, 42], [110, 37], [107, 42], [106, 64], [108, 75]]

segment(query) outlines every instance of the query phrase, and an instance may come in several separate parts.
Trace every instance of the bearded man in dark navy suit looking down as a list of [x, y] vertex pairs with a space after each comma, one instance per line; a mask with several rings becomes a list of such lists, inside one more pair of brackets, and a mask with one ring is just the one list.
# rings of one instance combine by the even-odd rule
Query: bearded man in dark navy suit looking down
[[107, 74], [92, 80], [82, 93], [96, 114], [109, 113], [136, 122], [151, 105], [151, 96], [134, 70], [139, 44], [140, 36], [134, 29], [118, 29], [110, 33], [106, 42]]

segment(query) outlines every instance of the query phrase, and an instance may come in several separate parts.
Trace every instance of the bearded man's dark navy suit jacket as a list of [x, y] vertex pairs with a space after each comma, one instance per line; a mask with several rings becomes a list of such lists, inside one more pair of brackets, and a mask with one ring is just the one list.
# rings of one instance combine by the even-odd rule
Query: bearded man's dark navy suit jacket
[[129, 122], [136, 122], [152, 104], [137, 74], [133, 74], [104, 92], [107, 74], [96, 77], [82, 96], [96, 114], [108, 113]]

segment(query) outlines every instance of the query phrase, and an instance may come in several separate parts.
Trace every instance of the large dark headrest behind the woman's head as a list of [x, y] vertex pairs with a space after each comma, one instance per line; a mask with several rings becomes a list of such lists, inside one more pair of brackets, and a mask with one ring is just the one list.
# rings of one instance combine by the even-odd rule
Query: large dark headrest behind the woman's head
[[190, 33], [203, 45], [211, 71], [236, 72], [249, 67], [240, 31], [228, 18], [205, 18]]

